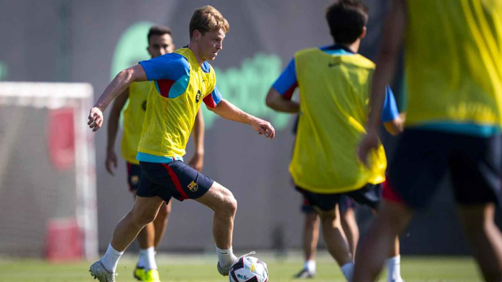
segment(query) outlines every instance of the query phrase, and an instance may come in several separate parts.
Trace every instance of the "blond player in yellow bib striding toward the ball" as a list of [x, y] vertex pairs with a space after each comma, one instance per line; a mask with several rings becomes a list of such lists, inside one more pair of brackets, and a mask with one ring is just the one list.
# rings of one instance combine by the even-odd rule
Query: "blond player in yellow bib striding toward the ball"
[[183, 162], [202, 101], [225, 119], [249, 124], [265, 137], [275, 136], [269, 122], [222, 99], [215, 87], [216, 76], [207, 61], [214, 60], [222, 49], [228, 29], [228, 22], [213, 7], [196, 9], [190, 20], [190, 43], [186, 48], [121, 71], [90, 110], [88, 124], [96, 131], [103, 123], [106, 106], [132, 82], [154, 81], [136, 157], [142, 170], [136, 202], [117, 223], [104, 256], [90, 267], [91, 275], [99, 281], [115, 280], [116, 265], [123, 251], [171, 197], [180, 201], [194, 199], [214, 211], [213, 238], [220, 274], [228, 275], [230, 265], [237, 259], [232, 251], [235, 198], [230, 190]]

